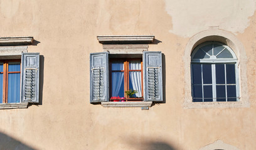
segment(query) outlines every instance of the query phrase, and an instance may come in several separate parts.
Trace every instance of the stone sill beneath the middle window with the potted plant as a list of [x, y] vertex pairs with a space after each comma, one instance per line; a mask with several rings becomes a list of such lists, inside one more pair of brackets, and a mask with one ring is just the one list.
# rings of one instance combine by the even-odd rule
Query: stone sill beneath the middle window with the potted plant
[[102, 102], [104, 108], [136, 108], [151, 107], [152, 101]]

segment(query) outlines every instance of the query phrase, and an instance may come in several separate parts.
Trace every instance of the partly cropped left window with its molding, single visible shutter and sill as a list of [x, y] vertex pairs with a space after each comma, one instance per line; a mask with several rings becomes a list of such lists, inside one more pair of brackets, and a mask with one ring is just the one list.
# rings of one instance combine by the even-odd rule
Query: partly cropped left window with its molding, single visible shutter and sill
[[0, 109], [39, 103], [39, 53], [27, 53], [33, 37], [0, 37]]

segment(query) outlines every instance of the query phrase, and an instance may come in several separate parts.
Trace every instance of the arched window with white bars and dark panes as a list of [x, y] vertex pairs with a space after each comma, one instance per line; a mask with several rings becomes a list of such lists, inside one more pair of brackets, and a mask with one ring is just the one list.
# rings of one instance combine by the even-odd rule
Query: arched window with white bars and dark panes
[[193, 102], [238, 101], [237, 56], [221, 42], [203, 42], [191, 54]]

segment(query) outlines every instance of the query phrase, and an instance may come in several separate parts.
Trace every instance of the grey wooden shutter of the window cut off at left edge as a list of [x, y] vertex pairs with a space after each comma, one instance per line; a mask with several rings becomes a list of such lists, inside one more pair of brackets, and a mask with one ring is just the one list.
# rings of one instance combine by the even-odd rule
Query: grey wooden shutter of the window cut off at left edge
[[39, 53], [21, 55], [21, 102], [39, 103]]

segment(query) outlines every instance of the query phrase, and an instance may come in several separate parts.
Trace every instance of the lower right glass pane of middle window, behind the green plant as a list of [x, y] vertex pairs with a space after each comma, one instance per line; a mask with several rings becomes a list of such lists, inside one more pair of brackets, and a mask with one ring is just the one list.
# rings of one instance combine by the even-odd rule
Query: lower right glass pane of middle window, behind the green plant
[[[158, 79], [156, 79], [158, 81]], [[129, 72], [129, 89], [136, 90], [137, 93], [133, 94], [131, 98], [141, 98], [141, 71]]]

